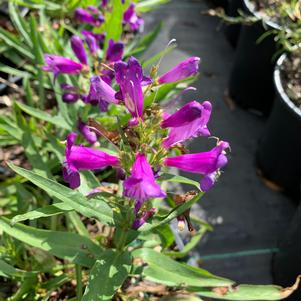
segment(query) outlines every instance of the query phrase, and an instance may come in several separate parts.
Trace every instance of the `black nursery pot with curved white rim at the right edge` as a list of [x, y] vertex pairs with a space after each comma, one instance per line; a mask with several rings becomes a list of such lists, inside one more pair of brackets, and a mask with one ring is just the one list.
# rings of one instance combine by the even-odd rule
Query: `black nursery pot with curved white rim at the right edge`
[[289, 99], [281, 83], [281, 65], [285, 59], [286, 55], [282, 55], [277, 61], [274, 72], [275, 102], [259, 142], [256, 159], [265, 178], [283, 187], [299, 201], [301, 110]]

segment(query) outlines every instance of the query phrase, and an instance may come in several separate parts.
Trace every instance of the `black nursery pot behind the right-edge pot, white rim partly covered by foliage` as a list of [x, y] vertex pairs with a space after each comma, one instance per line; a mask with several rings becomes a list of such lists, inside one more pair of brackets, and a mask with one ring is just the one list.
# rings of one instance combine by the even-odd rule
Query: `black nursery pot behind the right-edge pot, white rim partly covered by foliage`
[[[244, 0], [243, 4], [250, 15], [259, 18], [249, 0]], [[269, 21], [242, 25], [229, 80], [230, 97], [242, 108], [264, 115], [269, 114], [274, 99], [276, 43], [273, 35], [258, 40], [267, 30], [277, 28], [277, 24]]]

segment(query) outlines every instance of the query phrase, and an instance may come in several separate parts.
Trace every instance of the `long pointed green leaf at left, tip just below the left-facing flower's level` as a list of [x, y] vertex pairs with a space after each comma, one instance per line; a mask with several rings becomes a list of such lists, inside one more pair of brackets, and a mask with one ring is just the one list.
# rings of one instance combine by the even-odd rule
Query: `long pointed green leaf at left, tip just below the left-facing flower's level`
[[63, 186], [53, 180], [35, 174], [32, 171], [17, 167], [9, 163], [9, 167], [16, 173], [28, 179], [38, 187], [45, 190], [50, 196], [58, 198], [75, 211], [89, 218], [96, 218], [105, 224], [113, 224], [113, 210], [101, 199], [87, 199], [81, 193]]

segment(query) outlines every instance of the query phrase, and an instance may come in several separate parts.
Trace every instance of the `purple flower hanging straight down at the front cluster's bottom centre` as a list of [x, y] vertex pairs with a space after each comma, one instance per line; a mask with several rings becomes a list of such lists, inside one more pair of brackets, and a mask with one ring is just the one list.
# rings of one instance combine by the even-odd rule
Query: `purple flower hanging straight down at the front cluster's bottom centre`
[[166, 193], [156, 183], [152, 168], [143, 154], [137, 154], [131, 175], [123, 182], [123, 188], [124, 196], [136, 201], [136, 214], [148, 199], [166, 197]]

